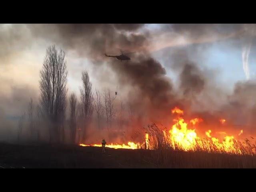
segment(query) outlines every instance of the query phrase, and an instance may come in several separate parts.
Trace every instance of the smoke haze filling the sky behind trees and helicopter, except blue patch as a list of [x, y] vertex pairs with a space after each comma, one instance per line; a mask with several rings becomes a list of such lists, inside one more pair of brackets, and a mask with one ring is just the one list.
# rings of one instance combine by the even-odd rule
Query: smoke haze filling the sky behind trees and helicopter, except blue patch
[[[0, 129], [7, 133], [7, 127], [14, 126], [6, 117], [20, 116], [30, 98], [38, 102], [39, 70], [46, 48], [52, 44], [66, 52], [70, 92], [79, 94], [81, 72], [86, 68], [93, 88], [102, 91], [110, 88], [114, 94], [117, 87], [116, 107], [121, 100], [126, 102], [126, 116], [133, 108], [138, 126], [168, 123], [174, 106], [184, 108], [189, 115], [202, 114], [206, 119], [219, 118], [220, 111], [238, 123], [246, 117], [244, 123], [251, 126], [254, 121], [249, 117], [256, 108], [253, 98], [256, 83], [253, 80], [237, 82], [230, 92], [225, 82], [220, 83], [221, 69], [210, 68], [204, 62], [208, 59], [207, 48], [232, 40], [236, 44], [228, 47], [239, 50], [240, 57], [242, 53], [241, 69], [249, 80], [255, 25], [159, 26], [151, 30], [146, 24], [1, 24], [0, 118], [6, 123]], [[198, 45], [204, 48], [198, 49]], [[164, 51], [165, 48], [174, 51]], [[119, 49], [135, 52], [132, 60], [120, 62], [104, 56], [105, 53], [118, 55]], [[231, 65], [228, 61], [224, 64]], [[169, 71], [176, 76], [175, 80]]]

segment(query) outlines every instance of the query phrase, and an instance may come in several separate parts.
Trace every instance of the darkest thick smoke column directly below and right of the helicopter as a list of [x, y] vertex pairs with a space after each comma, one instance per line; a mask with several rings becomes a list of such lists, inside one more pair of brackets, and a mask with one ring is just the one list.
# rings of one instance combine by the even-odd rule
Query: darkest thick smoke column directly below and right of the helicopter
[[161, 113], [170, 114], [170, 108], [178, 101], [171, 79], [166, 77], [163, 66], [149, 55], [140, 55], [129, 63], [114, 61], [112, 69], [118, 74], [120, 86], [131, 86], [129, 99], [137, 111], [152, 121]]

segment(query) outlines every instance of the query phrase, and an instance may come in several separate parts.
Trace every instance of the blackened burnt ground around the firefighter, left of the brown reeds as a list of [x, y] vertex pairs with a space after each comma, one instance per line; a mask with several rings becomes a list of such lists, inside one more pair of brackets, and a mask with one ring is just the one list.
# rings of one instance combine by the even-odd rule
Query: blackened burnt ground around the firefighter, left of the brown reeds
[[[136, 155], [135, 155], [136, 154]], [[4, 168], [152, 168], [138, 150], [63, 145], [0, 144]], [[0, 167], [0, 168], [1, 168]]]

